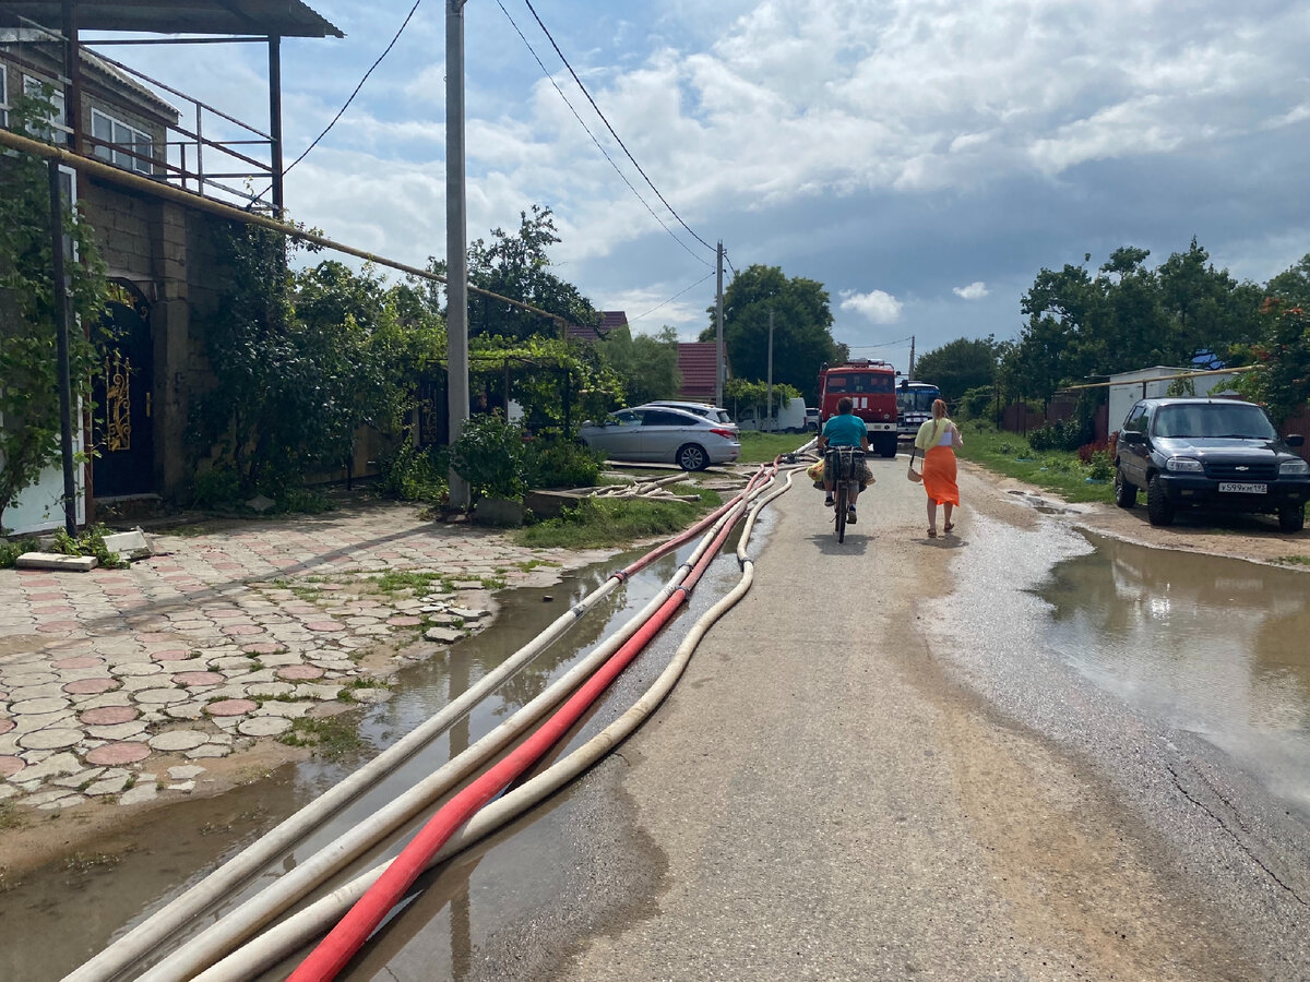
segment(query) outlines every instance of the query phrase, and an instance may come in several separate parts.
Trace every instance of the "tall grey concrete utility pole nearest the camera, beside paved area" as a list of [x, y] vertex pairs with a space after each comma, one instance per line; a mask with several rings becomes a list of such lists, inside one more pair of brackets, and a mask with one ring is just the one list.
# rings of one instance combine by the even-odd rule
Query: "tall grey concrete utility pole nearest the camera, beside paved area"
[[[464, 4], [445, 4], [445, 371], [449, 441], [469, 418], [469, 263], [464, 200]], [[469, 507], [469, 483], [451, 469], [451, 505]]]

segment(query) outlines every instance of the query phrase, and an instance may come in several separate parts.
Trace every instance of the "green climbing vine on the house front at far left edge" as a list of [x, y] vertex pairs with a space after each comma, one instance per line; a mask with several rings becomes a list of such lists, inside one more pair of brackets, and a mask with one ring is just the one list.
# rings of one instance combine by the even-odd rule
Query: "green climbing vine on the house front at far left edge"
[[[9, 126], [47, 139], [52, 90], [17, 96]], [[64, 207], [63, 229], [76, 261], [64, 264], [68, 287], [72, 398], [90, 403], [94, 346], [79, 329], [98, 334], [107, 284], [94, 232], [80, 209]], [[54, 244], [46, 165], [33, 157], [0, 157], [0, 529], [10, 507], [59, 456], [59, 364], [55, 355]]]

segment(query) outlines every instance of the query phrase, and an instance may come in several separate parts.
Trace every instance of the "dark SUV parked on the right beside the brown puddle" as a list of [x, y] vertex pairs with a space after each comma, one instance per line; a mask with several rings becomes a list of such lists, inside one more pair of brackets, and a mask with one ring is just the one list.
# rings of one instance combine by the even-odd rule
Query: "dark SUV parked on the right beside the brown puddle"
[[1279, 439], [1264, 410], [1235, 399], [1142, 399], [1129, 410], [1115, 446], [1115, 503], [1132, 508], [1146, 491], [1151, 525], [1180, 507], [1277, 513], [1300, 532], [1310, 499], [1310, 464]]

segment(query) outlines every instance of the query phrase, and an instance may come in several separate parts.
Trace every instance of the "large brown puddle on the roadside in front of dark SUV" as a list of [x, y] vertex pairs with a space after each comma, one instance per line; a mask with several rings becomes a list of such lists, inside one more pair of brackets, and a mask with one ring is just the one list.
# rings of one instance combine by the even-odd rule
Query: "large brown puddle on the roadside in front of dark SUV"
[[1041, 591], [1049, 646], [1310, 817], [1310, 576], [1091, 538]]

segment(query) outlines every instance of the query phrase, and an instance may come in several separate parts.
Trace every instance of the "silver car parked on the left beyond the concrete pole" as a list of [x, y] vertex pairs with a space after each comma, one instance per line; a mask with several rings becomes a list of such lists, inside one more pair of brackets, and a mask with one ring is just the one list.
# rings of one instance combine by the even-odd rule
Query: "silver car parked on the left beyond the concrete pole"
[[610, 460], [676, 464], [683, 470], [731, 464], [741, 454], [735, 427], [664, 406], [637, 406], [599, 423], [588, 420], [579, 436]]

